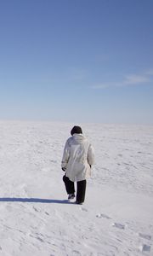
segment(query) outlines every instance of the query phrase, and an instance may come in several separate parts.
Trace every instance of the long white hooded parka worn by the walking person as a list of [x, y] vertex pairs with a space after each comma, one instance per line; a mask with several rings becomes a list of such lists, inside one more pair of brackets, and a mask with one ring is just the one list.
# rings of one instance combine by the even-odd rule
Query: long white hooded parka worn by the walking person
[[74, 181], [82, 181], [91, 175], [94, 164], [94, 148], [82, 134], [73, 134], [66, 143], [61, 167], [65, 176]]

